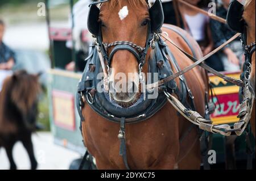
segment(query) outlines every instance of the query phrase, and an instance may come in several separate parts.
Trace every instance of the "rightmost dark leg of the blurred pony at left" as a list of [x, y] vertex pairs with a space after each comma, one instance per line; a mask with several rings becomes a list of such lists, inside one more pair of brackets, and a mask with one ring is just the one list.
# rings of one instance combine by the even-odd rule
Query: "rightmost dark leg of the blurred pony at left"
[[30, 157], [31, 170], [35, 170], [36, 167], [38, 167], [38, 162], [36, 161], [35, 154], [34, 154], [33, 144], [31, 140], [31, 133], [26, 134], [26, 136], [24, 136], [21, 141], [24, 148], [27, 150], [28, 157]]

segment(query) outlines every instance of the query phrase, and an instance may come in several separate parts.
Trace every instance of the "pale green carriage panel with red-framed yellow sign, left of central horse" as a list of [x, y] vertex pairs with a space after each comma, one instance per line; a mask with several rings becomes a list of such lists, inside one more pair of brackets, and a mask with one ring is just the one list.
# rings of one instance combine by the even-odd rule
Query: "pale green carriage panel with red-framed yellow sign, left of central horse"
[[57, 145], [81, 154], [85, 152], [76, 110], [77, 83], [81, 74], [64, 70], [49, 71], [48, 98], [51, 131]]

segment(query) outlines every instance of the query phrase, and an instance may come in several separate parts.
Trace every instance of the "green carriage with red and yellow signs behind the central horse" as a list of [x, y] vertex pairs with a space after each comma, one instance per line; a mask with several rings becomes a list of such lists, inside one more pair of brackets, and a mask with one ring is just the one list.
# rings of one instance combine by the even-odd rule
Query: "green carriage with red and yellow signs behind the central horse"
[[[72, 9], [72, 0], [70, 1], [70, 5]], [[51, 14], [53, 10], [48, 7], [48, 11], [48, 14]], [[48, 17], [48, 22], [52, 59], [52, 67], [48, 72], [51, 132], [55, 138], [55, 144], [77, 151], [82, 157], [86, 149], [82, 143], [80, 116], [76, 109], [77, 85], [82, 77], [82, 73], [79, 71], [72, 72], [65, 70], [65, 65], [70, 60], [76, 58], [75, 50], [69, 49], [66, 46], [67, 41], [71, 40], [74, 43], [72, 39], [72, 28], [52, 27], [50, 17]], [[89, 41], [88, 37], [90, 35], [87, 30], [82, 32], [82, 36], [82, 41]], [[224, 74], [235, 78], [240, 77], [240, 72], [225, 72]], [[216, 111], [211, 115], [213, 124], [236, 123], [238, 121], [236, 115], [238, 115], [240, 105], [238, 87], [230, 85], [212, 74], [209, 74], [209, 78], [213, 87], [213, 101], [217, 106]], [[250, 161], [252, 157], [255, 159], [255, 155], [253, 154], [255, 148], [254, 141], [251, 141], [253, 145], [250, 148], [245, 144], [246, 139], [253, 140], [253, 136], [249, 130], [240, 137], [225, 137], [221, 136], [221, 134], [211, 134], [210, 138], [212, 138], [210, 149], [216, 151], [217, 163], [220, 163], [213, 165], [213, 168], [220, 169], [224, 167], [223, 163], [226, 163], [226, 168], [230, 169], [228, 166], [234, 160], [241, 161], [241, 167], [246, 167], [245, 161], [247, 157], [250, 158]], [[233, 144], [235, 144], [235, 148], [232, 147]], [[92, 160], [92, 158], [89, 159]], [[80, 162], [81, 158], [73, 162], [72, 168], [77, 169], [77, 165]]]

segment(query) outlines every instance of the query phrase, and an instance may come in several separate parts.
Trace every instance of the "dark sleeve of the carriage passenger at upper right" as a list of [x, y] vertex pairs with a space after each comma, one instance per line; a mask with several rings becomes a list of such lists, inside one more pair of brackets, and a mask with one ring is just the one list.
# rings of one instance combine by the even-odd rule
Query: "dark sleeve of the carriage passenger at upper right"
[[221, 28], [222, 24], [216, 20], [210, 20], [210, 30], [212, 31], [212, 39], [214, 47], [219, 47], [226, 42], [226, 37]]

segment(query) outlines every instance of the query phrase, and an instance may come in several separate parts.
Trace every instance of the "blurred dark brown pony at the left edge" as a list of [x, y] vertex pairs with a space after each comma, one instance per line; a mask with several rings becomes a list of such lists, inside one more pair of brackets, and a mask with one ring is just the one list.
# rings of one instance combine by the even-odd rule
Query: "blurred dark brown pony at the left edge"
[[38, 113], [38, 94], [40, 84], [38, 75], [16, 71], [3, 82], [0, 92], [0, 148], [6, 149], [10, 169], [16, 169], [13, 159], [13, 146], [21, 141], [30, 157], [31, 169], [36, 169], [36, 162], [31, 133], [35, 131]]

